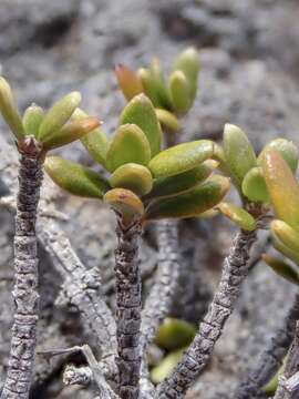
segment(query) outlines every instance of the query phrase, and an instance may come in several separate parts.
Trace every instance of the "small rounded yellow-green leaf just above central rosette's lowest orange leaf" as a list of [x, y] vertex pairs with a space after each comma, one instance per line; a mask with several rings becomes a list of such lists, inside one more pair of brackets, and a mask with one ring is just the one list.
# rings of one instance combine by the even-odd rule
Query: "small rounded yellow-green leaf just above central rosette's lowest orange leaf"
[[114, 171], [110, 177], [112, 187], [127, 188], [137, 195], [145, 195], [153, 187], [153, 177], [147, 167], [127, 163]]

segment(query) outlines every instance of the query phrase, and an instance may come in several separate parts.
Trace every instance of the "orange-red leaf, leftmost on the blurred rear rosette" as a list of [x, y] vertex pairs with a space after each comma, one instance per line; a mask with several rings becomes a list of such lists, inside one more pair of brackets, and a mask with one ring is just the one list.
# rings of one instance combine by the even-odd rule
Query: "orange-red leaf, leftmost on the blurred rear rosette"
[[117, 64], [115, 66], [115, 75], [117, 78], [118, 86], [127, 101], [143, 92], [142, 82], [137, 73], [126, 65]]

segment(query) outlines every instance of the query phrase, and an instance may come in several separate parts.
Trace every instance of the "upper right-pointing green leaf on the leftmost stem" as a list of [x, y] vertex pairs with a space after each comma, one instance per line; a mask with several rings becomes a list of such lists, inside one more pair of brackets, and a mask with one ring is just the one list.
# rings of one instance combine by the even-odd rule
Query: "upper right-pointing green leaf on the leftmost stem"
[[55, 102], [47, 112], [40, 125], [39, 140], [43, 142], [47, 136], [61, 130], [64, 123], [72, 116], [80, 102], [81, 94], [79, 92], [71, 92]]

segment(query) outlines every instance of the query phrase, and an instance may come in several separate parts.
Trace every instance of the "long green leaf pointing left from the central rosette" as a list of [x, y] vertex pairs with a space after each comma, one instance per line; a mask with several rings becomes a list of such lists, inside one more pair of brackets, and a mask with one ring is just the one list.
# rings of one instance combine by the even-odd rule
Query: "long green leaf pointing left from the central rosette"
[[44, 168], [61, 188], [74, 195], [102, 198], [110, 190], [109, 182], [99, 173], [60, 156], [48, 156]]

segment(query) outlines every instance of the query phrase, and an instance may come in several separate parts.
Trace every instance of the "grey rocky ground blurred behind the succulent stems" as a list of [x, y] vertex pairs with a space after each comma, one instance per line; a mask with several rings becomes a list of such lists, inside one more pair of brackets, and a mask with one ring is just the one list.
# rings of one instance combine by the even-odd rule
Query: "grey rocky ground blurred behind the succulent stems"
[[[202, 49], [203, 71], [186, 139], [220, 139], [224, 123], [230, 122], [248, 132], [257, 150], [277, 135], [299, 144], [298, 18], [296, 0], [2, 0], [0, 71], [12, 82], [22, 110], [32, 100], [47, 106], [65, 91], [80, 90], [84, 106], [113, 132], [124, 104], [113, 65], [137, 66], [155, 54], [167, 68], [181, 49], [194, 44]], [[7, 135], [6, 129], [1, 134]], [[80, 145], [64, 155], [90, 163]], [[100, 268], [113, 306], [113, 215], [97, 203], [69, 197], [60, 208], [70, 215], [62, 227], [83, 263]], [[0, 212], [0, 226], [1, 380], [12, 309], [13, 221], [6, 211]], [[152, 233], [146, 232], [142, 252], [145, 287], [156, 263]], [[183, 287], [189, 288], [182, 288], [174, 315], [190, 321], [203, 317], [231, 234], [223, 221], [182, 224], [187, 264]], [[54, 306], [61, 278], [42, 248], [41, 258], [40, 347], [93, 344], [75, 311]], [[189, 397], [228, 395], [281, 324], [292, 295], [289, 285], [257, 264], [212, 364]], [[63, 388], [62, 367], [63, 359], [51, 367], [38, 359], [32, 399], [92, 397], [89, 390]]]

